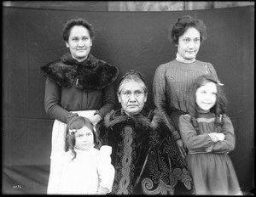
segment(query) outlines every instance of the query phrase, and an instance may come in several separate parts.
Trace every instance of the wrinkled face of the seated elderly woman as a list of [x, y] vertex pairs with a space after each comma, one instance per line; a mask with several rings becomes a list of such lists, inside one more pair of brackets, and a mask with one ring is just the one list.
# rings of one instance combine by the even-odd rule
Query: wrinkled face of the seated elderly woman
[[121, 92], [118, 94], [119, 103], [128, 115], [136, 115], [143, 110], [147, 101], [143, 82], [124, 82]]

